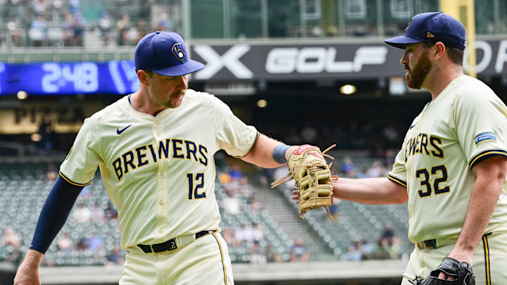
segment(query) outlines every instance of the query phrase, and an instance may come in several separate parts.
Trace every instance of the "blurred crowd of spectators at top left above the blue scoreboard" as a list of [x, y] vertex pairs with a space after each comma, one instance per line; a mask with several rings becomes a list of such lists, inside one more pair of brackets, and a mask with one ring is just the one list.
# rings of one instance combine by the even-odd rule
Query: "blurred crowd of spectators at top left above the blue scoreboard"
[[92, 46], [132, 46], [144, 34], [175, 28], [164, 6], [169, 2], [162, 1], [153, 14], [150, 5], [157, 0], [127, 6], [123, 2], [0, 0], [0, 23], [4, 24], [0, 45], [84, 46], [88, 36]]

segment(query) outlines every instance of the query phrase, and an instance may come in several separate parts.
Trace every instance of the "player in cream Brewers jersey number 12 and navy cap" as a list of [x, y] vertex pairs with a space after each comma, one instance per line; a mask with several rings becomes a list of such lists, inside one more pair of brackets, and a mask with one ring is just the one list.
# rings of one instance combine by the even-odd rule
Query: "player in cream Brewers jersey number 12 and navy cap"
[[147, 34], [134, 61], [139, 90], [84, 120], [15, 284], [39, 284], [42, 256], [97, 167], [127, 251], [120, 284], [234, 284], [218, 227], [213, 154], [224, 149], [279, 167], [296, 146], [259, 134], [219, 99], [187, 89], [188, 74], [204, 65], [188, 58], [179, 34]]

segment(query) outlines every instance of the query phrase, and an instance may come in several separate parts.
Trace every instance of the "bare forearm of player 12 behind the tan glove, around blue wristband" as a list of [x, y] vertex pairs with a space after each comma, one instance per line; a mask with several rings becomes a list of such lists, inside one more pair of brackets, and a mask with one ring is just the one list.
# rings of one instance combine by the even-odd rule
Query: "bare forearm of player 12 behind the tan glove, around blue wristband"
[[[276, 141], [275, 139], [266, 137], [264, 134], [260, 134], [250, 153], [242, 158], [242, 160], [264, 168], [280, 167], [282, 164], [277, 163], [273, 158], [273, 150], [280, 144], [282, 144], [280, 141]], [[291, 146], [287, 149], [285, 152], [286, 159], [289, 158], [294, 149], [296, 149], [296, 146]]]

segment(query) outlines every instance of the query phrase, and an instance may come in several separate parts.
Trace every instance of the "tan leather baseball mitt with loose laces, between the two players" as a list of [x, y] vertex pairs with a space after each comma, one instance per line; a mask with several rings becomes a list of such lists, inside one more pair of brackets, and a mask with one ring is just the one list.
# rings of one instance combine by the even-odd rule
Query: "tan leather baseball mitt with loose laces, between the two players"
[[322, 156], [334, 159], [332, 156], [325, 154], [331, 148], [336, 146], [333, 144], [325, 151], [320, 152], [316, 146], [305, 144], [299, 146], [291, 154], [287, 165], [289, 166], [289, 174], [277, 181], [271, 183], [271, 188], [275, 188], [280, 184], [289, 182], [292, 179], [296, 182], [296, 189], [299, 192], [299, 210], [301, 219], [304, 219], [303, 214], [308, 210], [313, 210], [319, 207], [325, 207], [327, 215], [331, 218], [328, 205], [332, 203], [332, 179], [330, 165], [327, 165], [325, 160], [312, 156], [310, 151], [317, 151]]

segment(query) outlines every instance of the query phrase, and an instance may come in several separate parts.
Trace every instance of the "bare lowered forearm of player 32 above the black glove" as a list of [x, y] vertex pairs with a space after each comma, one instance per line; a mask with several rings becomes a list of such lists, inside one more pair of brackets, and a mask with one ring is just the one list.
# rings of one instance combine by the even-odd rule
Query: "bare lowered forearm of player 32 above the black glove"
[[467, 215], [456, 247], [473, 251], [491, 220], [505, 179], [477, 179], [468, 203]]

